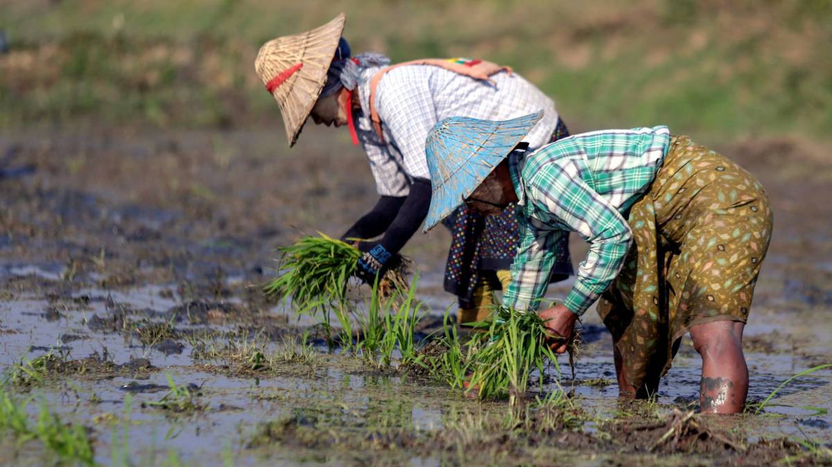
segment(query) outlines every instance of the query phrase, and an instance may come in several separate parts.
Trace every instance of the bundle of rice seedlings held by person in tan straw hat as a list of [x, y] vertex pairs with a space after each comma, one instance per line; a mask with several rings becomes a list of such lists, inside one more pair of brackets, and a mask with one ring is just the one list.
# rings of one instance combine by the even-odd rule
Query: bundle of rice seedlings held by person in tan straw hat
[[[279, 297], [280, 302], [291, 300], [298, 313], [349, 309], [347, 285], [362, 255], [358, 248], [319, 233], [279, 251], [280, 276], [265, 286], [267, 296]], [[410, 264], [401, 255], [392, 258], [379, 278], [379, 293], [386, 297], [395, 290], [407, 290]]]

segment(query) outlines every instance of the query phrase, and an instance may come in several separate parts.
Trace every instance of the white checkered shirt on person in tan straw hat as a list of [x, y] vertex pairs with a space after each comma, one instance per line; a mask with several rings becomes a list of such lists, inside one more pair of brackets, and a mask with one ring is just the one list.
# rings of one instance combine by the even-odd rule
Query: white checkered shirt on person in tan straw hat
[[412, 179], [430, 179], [425, 139], [439, 120], [450, 116], [508, 120], [543, 110], [542, 120], [524, 140], [532, 150], [547, 144], [557, 125], [552, 99], [517, 73], [500, 71], [488, 82], [438, 66], [409, 65], [389, 71], [376, 87], [382, 141], [369, 119], [369, 78], [380, 70], [364, 71], [355, 126], [376, 189], [383, 196], [407, 196]]

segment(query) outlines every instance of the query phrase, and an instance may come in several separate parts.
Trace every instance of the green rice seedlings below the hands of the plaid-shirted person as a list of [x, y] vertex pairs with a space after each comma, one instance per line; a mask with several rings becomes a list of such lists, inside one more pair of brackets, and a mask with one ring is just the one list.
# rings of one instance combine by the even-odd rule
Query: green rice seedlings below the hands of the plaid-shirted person
[[547, 345], [546, 327], [537, 313], [503, 307], [493, 321], [474, 326], [485, 332], [473, 336], [473, 353], [466, 366], [471, 375], [468, 388], [476, 388], [479, 399], [508, 396], [516, 405], [525, 397], [530, 371], [537, 369], [542, 376], [547, 361], [552, 361], [560, 374], [557, 357]]

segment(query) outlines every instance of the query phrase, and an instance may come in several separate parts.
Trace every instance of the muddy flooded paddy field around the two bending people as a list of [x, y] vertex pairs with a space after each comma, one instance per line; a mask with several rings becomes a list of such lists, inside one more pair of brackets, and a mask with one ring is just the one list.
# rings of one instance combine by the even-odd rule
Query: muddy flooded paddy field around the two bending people
[[[610, 337], [592, 311], [574, 378], [566, 357], [561, 376], [532, 375], [521, 414], [330, 349], [317, 322], [261, 286], [276, 273], [275, 248], [339, 235], [374, 203], [364, 156], [334, 140], [316, 128], [292, 151], [265, 132], [0, 136], [0, 421], [20, 434], [4, 438], [0, 465], [832, 462], [829, 369], [795, 378], [759, 414], [690, 415], [700, 359], [686, 339], [656, 401], [619, 401]], [[761, 180], [775, 209], [744, 340], [759, 403], [832, 362], [830, 148], [715, 146]], [[420, 345], [455, 312], [439, 230], [404, 251], [428, 311]], [[545, 400], [559, 387], [570, 396]], [[15, 427], [15, 410], [32, 425]], [[78, 427], [91, 454], [62, 435], [27, 436], [41, 410]]]

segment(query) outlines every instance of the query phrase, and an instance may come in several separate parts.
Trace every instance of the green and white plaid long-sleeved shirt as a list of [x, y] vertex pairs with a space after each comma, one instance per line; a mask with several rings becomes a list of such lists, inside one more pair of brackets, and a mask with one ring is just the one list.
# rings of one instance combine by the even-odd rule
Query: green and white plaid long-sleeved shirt
[[510, 155], [518, 194], [520, 247], [503, 299], [536, 310], [552, 272], [554, 245], [569, 231], [590, 244], [564, 305], [582, 315], [621, 270], [632, 232], [622, 213], [646, 193], [661, 168], [666, 126], [574, 135], [524, 155]]

